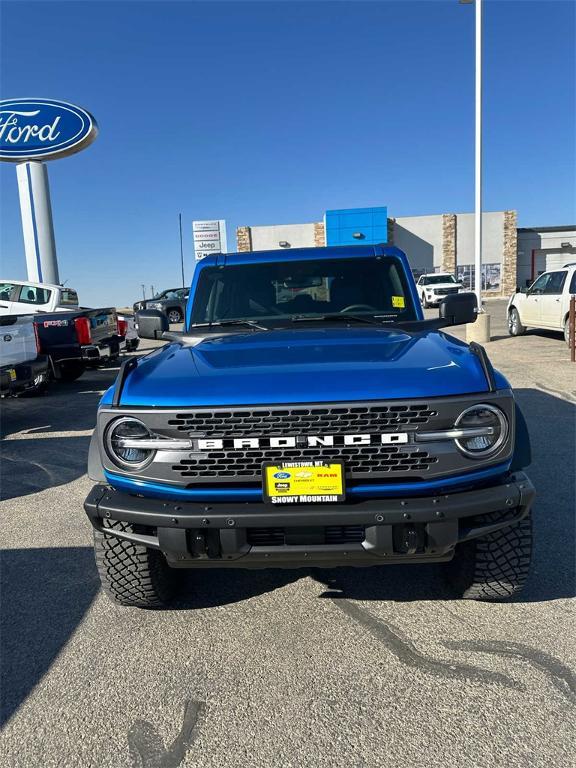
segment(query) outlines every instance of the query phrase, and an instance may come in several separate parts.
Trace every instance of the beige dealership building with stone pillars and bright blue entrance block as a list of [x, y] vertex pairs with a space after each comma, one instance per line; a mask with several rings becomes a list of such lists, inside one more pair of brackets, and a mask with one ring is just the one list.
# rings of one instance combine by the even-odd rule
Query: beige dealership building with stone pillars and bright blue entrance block
[[[508, 296], [539, 274], [576, 261], [576, 225], [518, 228], [516, 211], [482, 214], [482, 289]], [[392, 218], [385, 206], [326, 211], [306, 224], [243, 226], [239, 251], [387, 243], [402, 249], [416, 276], [451, 272], [470, 286], [474, 269], [474, 214]]]

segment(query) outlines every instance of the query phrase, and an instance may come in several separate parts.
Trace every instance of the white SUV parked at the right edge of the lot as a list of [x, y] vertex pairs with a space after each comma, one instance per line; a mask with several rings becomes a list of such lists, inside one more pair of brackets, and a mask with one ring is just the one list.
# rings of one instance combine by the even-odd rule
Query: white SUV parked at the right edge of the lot
[[520, 336], [527, 328], [546, 328], [563, 333], [568, 344], [572, 294], [576, 294], [576, 263], [544, 272], [527, 290], [518, 289], [510, 297], [508, 333]]

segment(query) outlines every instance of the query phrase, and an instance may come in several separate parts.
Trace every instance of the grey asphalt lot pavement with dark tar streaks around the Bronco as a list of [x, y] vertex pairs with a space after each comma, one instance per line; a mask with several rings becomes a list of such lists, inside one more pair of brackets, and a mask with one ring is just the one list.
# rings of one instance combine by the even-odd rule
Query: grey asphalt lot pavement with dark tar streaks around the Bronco
[[454, 600], [426, 565], [185, 572], [173, 608], [117, 607], [82, 509], [117, 371], [3, 401], [2, 764], [573, 765], [576, 365], [560, 335], [510, 339], [504, 304], [489, 309], [538, 493], [510, 603]]

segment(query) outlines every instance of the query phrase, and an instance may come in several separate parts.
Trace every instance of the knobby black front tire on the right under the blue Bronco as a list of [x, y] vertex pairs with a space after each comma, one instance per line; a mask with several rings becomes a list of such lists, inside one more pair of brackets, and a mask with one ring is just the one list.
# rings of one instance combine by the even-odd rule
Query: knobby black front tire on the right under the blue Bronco
[[[483, 523], [496, 523], [507, 512], [482, 516]], [[445, 575], [459, 597], [466, 600], [497, 601], [517, 595], [530, 572], [532, 517], [528, 514], [515, 525], [481, 539], [456, 546]]]

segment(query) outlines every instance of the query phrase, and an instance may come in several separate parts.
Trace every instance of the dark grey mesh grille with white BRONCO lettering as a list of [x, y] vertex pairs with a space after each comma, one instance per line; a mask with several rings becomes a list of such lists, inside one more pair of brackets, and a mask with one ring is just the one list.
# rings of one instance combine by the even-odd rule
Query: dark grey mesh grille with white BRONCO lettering
[[[447, 367], [461, 365], [458, 354], [455, 349], [455, 362]], [[449, 381], [440, 368], [429, 369], [435, 386]], [[403, 373], [406, 388], [417, 389], [417, 374], [414, 380], [409, 374], [408, 370]], [[391, 383], [383, 374], [383, 389]], [[479, 401], [495, 401], [513, 427], [514, 404], [507, 392], [413, 400], [139, 409], [135, 411], [137, 418], [152, 434], [188, 438], [190, 443], [178, 450], [157, 451], [153, 461], [137, 475], [142, 480], [189, 488], [257, 489], [261, 487], [264, 462], [339, 459], [344, 462], [348, 488], [358, 483], [411, 483], [450, 477], [503, 463], [510, 455], [513, 428], [506, 446], [488, 462], [463, 456], [453, 440], [418, 441], [421, 432], [453, 428], [462, 411]], [[132, 409], [128, 412], [132, 413]], [[118, 409], [101, 410], [102, 434], [118, 415]], [[398, 441], [392, 439], [395, 434]], [[369, 439], [357, 439], [363, 436]], [[107, 456], [103, 460], [108, 471], [129, 474]]]

